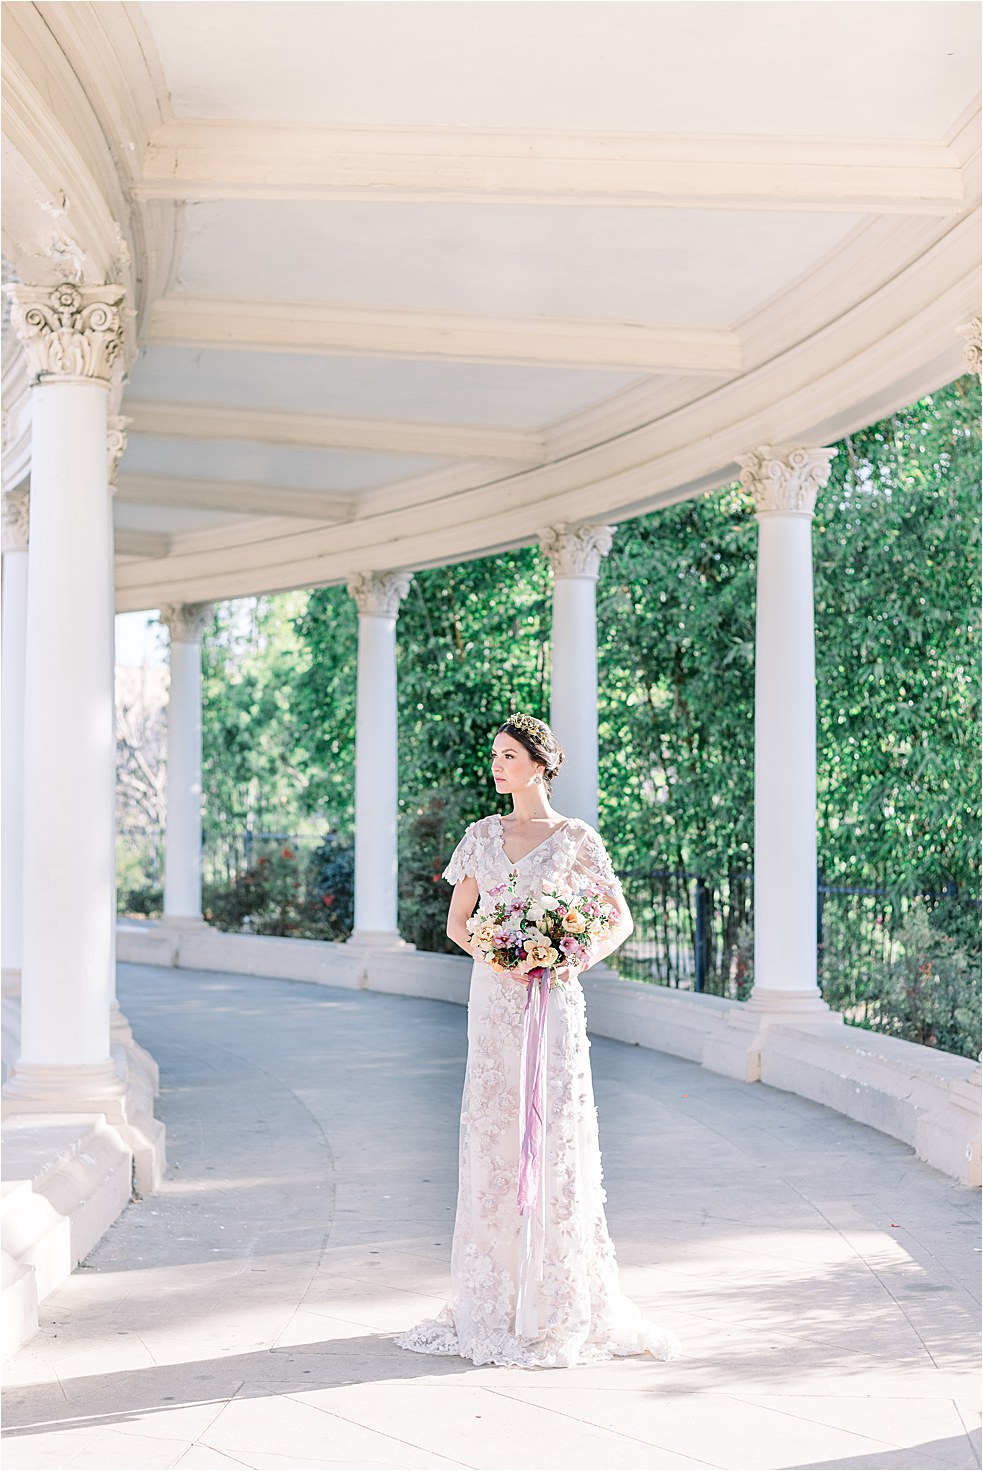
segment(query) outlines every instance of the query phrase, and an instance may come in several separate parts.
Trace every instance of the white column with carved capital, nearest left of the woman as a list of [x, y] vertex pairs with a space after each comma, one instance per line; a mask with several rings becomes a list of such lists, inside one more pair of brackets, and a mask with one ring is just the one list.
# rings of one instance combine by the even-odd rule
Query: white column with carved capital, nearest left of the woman
[[397, 924], [399, 761], [396, 616], [408, 572], [361, 572], [349, 581], [359, 610], [355, 731], [353, 944], [403, 946]]

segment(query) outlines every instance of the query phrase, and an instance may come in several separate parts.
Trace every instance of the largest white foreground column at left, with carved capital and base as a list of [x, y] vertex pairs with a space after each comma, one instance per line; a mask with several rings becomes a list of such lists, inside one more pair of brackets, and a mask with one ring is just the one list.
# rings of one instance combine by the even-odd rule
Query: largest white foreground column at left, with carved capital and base
[[[21, 1058], [12, 1106], [118, 1096], [107, 396], [122, 287], [18, 287], [32, 377]], [[59, 1103], [60, 1099], [60, 1103]]]

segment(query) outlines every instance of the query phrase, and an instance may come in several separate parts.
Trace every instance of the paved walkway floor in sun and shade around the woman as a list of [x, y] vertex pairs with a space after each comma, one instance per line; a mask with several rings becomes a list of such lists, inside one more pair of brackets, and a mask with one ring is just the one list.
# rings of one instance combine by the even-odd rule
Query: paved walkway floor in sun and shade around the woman
[[817, 1105], [595, 1041], [628, 1292], [686, 1356], [475, 1370], [443, 1300], [465, 1011], [122, 968], [171, 1172], [7, 1374], [28, 1467], [976, 1467], [979, 1194]]

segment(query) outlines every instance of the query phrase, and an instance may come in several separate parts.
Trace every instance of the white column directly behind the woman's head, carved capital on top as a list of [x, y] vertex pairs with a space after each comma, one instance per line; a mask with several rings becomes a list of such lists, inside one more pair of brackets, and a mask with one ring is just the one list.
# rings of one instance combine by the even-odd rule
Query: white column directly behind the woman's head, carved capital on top
[[553, 569], [550, 716], [567, 753], [553, 806], [597, 827], [597, 610], [600, 559], [614, 527], [549, 527], [540, 546]]

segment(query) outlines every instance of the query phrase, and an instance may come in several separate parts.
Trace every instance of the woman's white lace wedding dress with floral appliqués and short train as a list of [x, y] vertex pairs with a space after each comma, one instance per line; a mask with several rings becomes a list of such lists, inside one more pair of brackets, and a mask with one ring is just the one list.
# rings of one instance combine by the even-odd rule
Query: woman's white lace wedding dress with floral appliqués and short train
[[[517, 875], [517, 893], [543, 881], [618, 893], [592, 827], [568, 819], [518, 863], [502, 819], [472, 822], [444, 878], [468, 875], [480, 903]], [[458, 1353], [474, 1364], [568, 1368], [631, 1353], [675, 1358], [674, 1334], [647, 1322], [618, 1286], [605, 1221], [600, 1149], [580, 981], [556, 987], [546, 1021], [546, 1136], [539, 1219], [517, 1209], [519, 1052], [525, 986], [475, 962], [468, 1003], [468, 1066], [461, 1109], [458, 1215], [450, 1302], [396, 1342], [416, 1353]], [[517, 1321], [518, 1315], [518, 1321]]]

